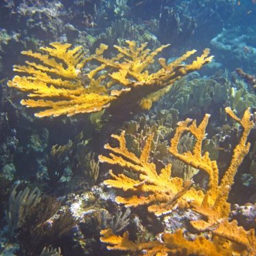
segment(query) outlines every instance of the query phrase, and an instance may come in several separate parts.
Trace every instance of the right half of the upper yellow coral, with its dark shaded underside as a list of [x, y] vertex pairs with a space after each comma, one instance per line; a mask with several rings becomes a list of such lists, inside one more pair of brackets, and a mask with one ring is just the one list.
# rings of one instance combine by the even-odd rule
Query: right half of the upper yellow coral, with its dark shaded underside
[[[136, 46], [134, 41], [127, 40], [128, 47], [116, 47], [119, 51], [118, 61], [116, 59], [106, 59], [95, 57], [107, 67], [113, 69], [110, 73], [110, 85], [122, 84], [126, 87], [124, 93], [119, 97], [119, 100], [110, 105], [110, 111], [113, 115], [117, 112], [126, 109], [136, 111], [139, 106], [143, 109], [150, 109], [152, 102], [159, 100], [159, 98], [170, 90], [174, 81], [182, 78], [187, 73], [200, 69], [203, 65], [211, 62], [213, 56], [209, 55], [209, 49], [205, 49], [203, 54], [194, 62], [188, 65], [181, 63], [196, 50], [187, 51], [183, 56], [174, 60], [170, 64], [166, 64], [164, 58], [159, 59], [161, 69], [150, 73], [150, 64], [154, 62], [154, 57], [160, 51], [169, 45], [163, 45], [154, 51], [145, 49], [147, 43], [140, 47]], [[146, 97], [146, 99], [144, 99]]]

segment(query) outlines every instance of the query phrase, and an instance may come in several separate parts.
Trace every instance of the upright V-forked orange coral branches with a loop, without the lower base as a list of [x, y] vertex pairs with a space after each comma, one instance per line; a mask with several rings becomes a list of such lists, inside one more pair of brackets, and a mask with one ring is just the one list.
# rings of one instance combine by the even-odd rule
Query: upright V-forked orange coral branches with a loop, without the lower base
[[[202, 139], [205, 137], [205, 128], [209, 119], [209, 115], [206, 115], [199, 126], [196, 126], [196, 122], [192, 122], [191, 119], [181, 121], [178, 123], [178, 128], [174, 138], [171, 140], [170, 152], [176, 156], [177, 159], [206, 172], [209, 176], [208, 189], [205, 194], [204, 200], [200, 207], [195, 206], [196, 211], [204, 214], [211, 215], [213, 220], [209, 221], [209, 227], [216, 223], [220, 218], [228, 217], [230, 213], [229, 203], [226, 202], [229, 196], [231, 185], [233, 185], [234, 176], [237, 172], [237, 168], [242, 163], [244, 156], [248, 153], [250, 143], [246, 143], [251, 128], [253, 128], [253, 122], [250, 121], [251, 114], [248, 110], [244, 113], [244, 117], [239, 119], [231, 110], [226, 108], [226, 113], [229, 115], [243, 128], [242, 137], [240, 143], [235, 147], [233, 152], [233, 158], [226, 170], [223, 178], [219, 181], [219, 170], [216, 161], [209, 159], [209, 153], [206, 152], [202, 155]], [[196, 137], [196, 144], [193, 151], [189, 152], [178, 152], [178, 141], [181, 139], [183, 132], [191, 132]], [[219, 185], [220, 183], [220, 185]], [[209, 212], [208, 212], [209, 211]], [[205, 223], [206, 224], [206, 223]], [[198, 229], [207, 229], [207, 226], [198, 227]]]

